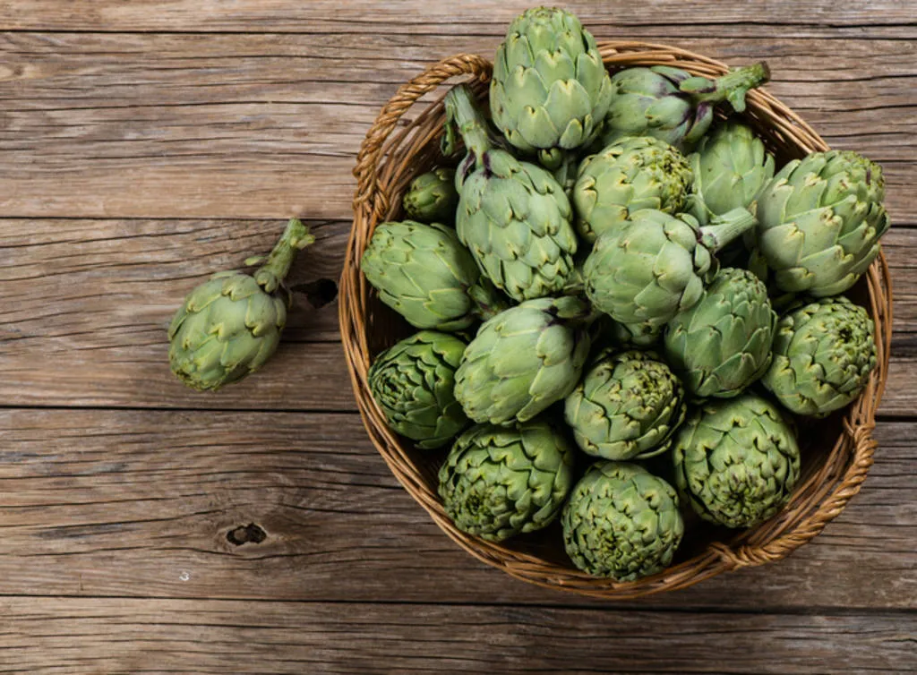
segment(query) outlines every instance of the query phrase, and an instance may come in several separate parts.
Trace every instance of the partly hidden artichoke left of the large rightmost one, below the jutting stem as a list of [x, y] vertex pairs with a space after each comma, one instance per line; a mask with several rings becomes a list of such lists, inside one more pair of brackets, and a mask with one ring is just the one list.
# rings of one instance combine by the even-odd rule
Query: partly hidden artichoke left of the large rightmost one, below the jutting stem
[[774, 157], [751, 127], [733, 120], [701, 138], [688, 157], [694, 183], [688, 211], [701, 223], [749, 208], [774, 177]]

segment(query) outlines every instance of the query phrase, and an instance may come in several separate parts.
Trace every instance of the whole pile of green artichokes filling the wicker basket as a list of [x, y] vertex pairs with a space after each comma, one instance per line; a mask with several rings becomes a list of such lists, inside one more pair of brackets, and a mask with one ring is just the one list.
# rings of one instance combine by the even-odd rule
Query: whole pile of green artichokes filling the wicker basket
[[610, 74], [579, 19], [546, 7], [494, 64], [487, 102], [447, 94], [443, 166], [363, 255], [420, 329], [376, 358], [370, 391], [419, 451], [448, 447], [439, 494], [460, 530], [559, 520], [577, 568], [632, 581], [668, 567], [686, 522], [778, 514], [795, 416], [866, 386], [874, 326], [841, 293], [889, 228], [882, 171], [834, 150], [777, 166], [728, 117], [765, 64]]

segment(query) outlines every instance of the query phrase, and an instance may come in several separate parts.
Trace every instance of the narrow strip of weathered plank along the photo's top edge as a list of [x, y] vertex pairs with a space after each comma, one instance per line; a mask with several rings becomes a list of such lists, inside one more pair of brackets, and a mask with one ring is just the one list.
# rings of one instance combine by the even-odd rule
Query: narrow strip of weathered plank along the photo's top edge
[[[565, 3], [590, 27], [655, 29], [670, 34], [696, 33], [703, 28], [744, 34], [836, 34], [845, 28], [872, 34], [882, 28], [913, 23], [913, 4], [871, 0], [840, 6], [830, 0], [785, 5], [755, 0], [742, 6], [715, 0], [692, 4], [686, 12], [678, 0], [646, 0], [639, 4], [596, 6], [586, 0]], [[372, 0], [347, 3], [333, 0], [10, 0], [0, 11], [0, 28], [40, 30], [177, 30], [177, 31], [292, 31], [326, 33], [459, 33], [499, 36], [512, 18], [532, 6], [530, 0], [469, 0], [461, 5], [424, 0], [395, 0], [384, 5]], [[884, 32], [884, 31], [882, 31]]]

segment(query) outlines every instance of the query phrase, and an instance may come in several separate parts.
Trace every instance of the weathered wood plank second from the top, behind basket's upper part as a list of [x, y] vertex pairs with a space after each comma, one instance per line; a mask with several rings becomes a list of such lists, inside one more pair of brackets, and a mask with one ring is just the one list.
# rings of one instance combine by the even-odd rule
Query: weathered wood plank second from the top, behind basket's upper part
[[[308, 39], [0, 36], [0, 211], [348, 218], [359, 143], [397, 86], [449, 54], [491, 53], [498, 40], [455, 31], [373, 37], [337, 26]], [[615, 36], [652, 39], [620, 28], [604, 37]], [[908, 189], [917, 180], [911, 162], [917, 107], [910, 94], [917, 43], [845, 39], [807, 41], [803, 48], [793, 39], [747, 36], [669, 41], [731, 63], [767, 59], [774, 94], [830, 143], [886, 165], [892, 215], [917, 210]]]

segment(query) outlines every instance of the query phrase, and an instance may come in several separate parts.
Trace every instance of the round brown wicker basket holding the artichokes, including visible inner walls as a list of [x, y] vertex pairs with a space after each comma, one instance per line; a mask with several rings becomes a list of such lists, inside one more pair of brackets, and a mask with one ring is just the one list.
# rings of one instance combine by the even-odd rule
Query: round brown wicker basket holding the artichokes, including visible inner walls
[[[642, 42], [600, 42], [610, 69], [636, 65], [671, 65], [687, 71], [719, 75], [727, 67], [690, 51]], [[436, 470], [445, 450], [418, 451], [385, 425], [367, 386], [371, 358], [408, 334], [406, 322], [370, 293], [359, 272], [359, 259], [377, 224], [401, 217], [401, 195], [416, 174], [438, 158], [442, 133], [442, 95], [413, 116], [403, 116], [425, 94], [458, 78], [483, 96], [491, 63], [460, 54], [430, 66], [404, 84], [385, 105], [363, 142], [356, 169], [353, 229], [341, 276], [340, 325], [348, 368], [359, 410], [372, 442], [395, 477], [461, 548], [517, 579], [601, 598], [635, 598], [685, 588], [720, 572], [762, 565], [785, 558], [822, 531], [859, 492], [872, 465], [875, 413], [889, 367], [891, 287], [889, 270], [880, 254], [865, 279], [849, 293], [864, 304], [876, 322], [878, 367], [866, 391], [843, 414], [807, 423], [801, 436], [802, 477], [790, 503], [768, 522], [736, 535], [734, 531], [691, 522], [673, 565], [654, 576], [619, 583], [590, 577], [576, 570], [563, 552], [558, 526], [541, 533], [494, 544], [459, 532], [449, 521], [436, 495]], [[451, 84], [451, 83], [450, 83]], [[446, 87], [443, 87], [444, 95]], [[823, 139], [786, 105], [766, 91], [748, 95], [746, 121], [781, 162], [812, 150], [827, 149]], [[832, 443], [830, 439], [834, 438]]]

